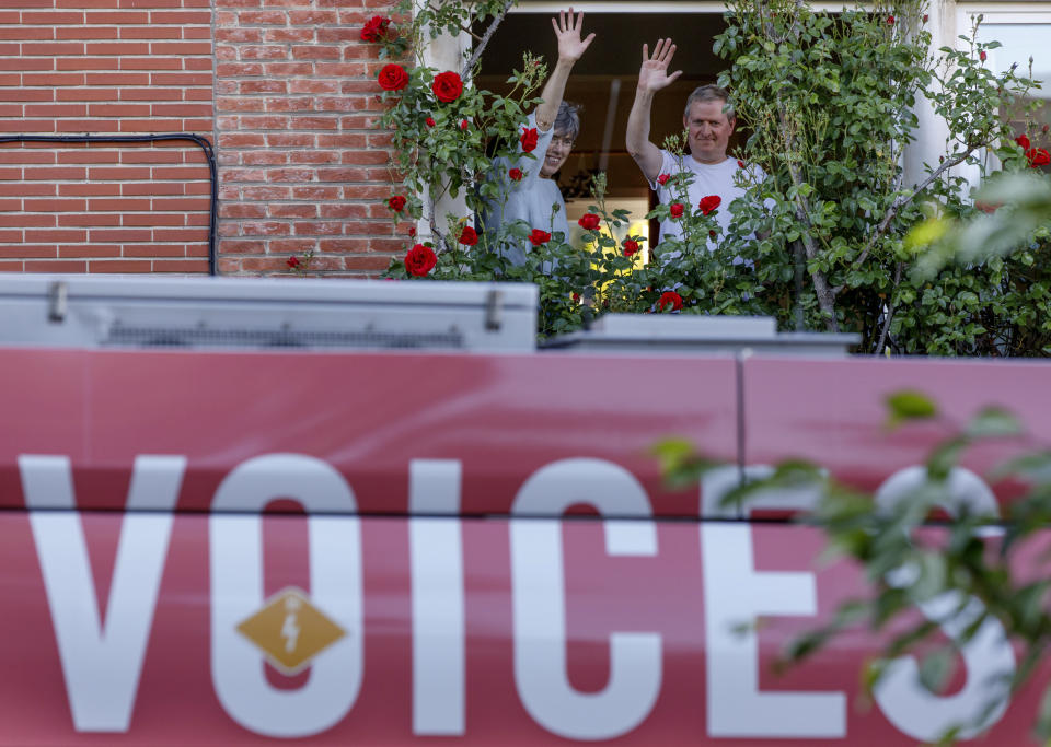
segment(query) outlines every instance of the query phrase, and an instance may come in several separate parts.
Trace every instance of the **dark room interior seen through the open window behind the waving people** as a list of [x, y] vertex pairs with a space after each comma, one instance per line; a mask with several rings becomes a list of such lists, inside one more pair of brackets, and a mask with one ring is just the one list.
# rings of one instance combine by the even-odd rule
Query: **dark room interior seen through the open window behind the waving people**
[[[725, 60], [712, 51], [713, 39], [726, 28], [723, 9], [708, 2], [580, 4], [586, 13], [585, 31], [598, 36], [574, 68], [565, 94], [566, 101], [584, 107], [573, 154], [555, 175], [566, 198], [569, 241], [577, 244], [582, 235], [577, 219], [592, 203], [590, 177], [605, 172], [608, 207], [611, 211], [630, 212], [628, 231], [647, 240], [645, 259], [650, 237], [656, 241], [658, 236], [657, 222], [650, 224], [645, 220], [656, 199], [625, 147], [625, 128], [635, 98], [643, 44], [649, 44], [652, 49], [658, 38], [671, 37], [678, 45], [672, 69], [683, 70], [678, 81], [658, 94], [654, 105], [650, 139], [659, 145], [666, 137], [682, 130], [682, 113], [690, 92], [698, 85], [715, 83], [725, 67]], [[556, 47], [550, 19], [557, 11], [556, 3], [522, 2], [509, 13], [482, 58], [478, 85], [506, 93], [507, 79], [521, 67], [527, 50], [553, 63]], [[730, 140], [730, 150], [737, 144], [736, 137]]]

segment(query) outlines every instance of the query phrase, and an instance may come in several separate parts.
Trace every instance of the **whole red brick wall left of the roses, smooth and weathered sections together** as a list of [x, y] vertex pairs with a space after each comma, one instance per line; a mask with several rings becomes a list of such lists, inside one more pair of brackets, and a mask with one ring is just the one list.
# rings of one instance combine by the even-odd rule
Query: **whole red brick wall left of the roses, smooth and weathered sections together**
[[[392, 0], [8, 0], [0, 137], [186, 131], [216, 143], [219, 271], [376, 273], [404, 248], [378, 48]], [[215, 5], [212, 9], [211, 5]], [[192, 143], [0, 144], [0, 270], [207, 271]]]

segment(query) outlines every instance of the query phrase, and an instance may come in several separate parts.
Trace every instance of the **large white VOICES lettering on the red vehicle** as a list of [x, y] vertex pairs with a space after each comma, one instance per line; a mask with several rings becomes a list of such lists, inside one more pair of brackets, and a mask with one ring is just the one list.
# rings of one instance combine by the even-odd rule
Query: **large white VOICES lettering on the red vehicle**
[[[37, 556], [55, 626], [73, 724], [81, 732], [126, 732], [142, 669], [161, 575], [168, 555], [173, 509], [186, 458], [139, 456], [128, 490], [105, 615], [97, 602], [86, 545], [63, 456], [23, 455], [19, 468]], [[763, 474], [766, 467], [749, 467]], [[711, 475], [702, 488], [706, 505], [736, 470]], [[877, 499], [896, 500], [917, 479], [920, 468], [897, 472]], [[455, 516], [461, 466], [457, 460], [414, 460], [409, 465], [409, 507], [417, 514]], [[954, 475], [960, 500], [989, 506], [988, 487], [967, 470]], [[273, 687], [261, 654], [236, 625], [263, 604], [263, 507], [276, 498], [294, 498], [309, 514], [311, 598], [345, 630], [362, 629], [362, 568], [354, 491], [320, 459], [273, 454], [249, 459], [223, 479], [209, 517], [211, 577], [211, 674], [219, 702], [245, 728], [275, 737], [302, 737], [338, 723], [354, 707], [362, 679], [362, 637], [347, 635], [312, 664], [299, 689]], [[807, 491], [760, 497], [759, 507], [812, 505]], [[655, 556], [657, 532], [649, 499], [624, 468], [600, 459], [563, 459], [533, 474], [515, 499], [512, 514], [557, 516], [587, 502], [603, 515], [635, 521], [603, 523], [610, 556]], [[42, 507], [70, 511], [33, 511]], [[951, 507], [951, 506], [949, 506]], [[149, 509], [149, 511], [136, 511]], [[238, 512], [238, 513], [233, 513]], [[413, 731], [417, 735], [462, 735], [465, 731], [464, 582], [460, 522], [409, 518], [413, 615]], [[813, 574], [755, 571], [751, 530], [743, 524], [700, 526], [705, 603], [708, 736], [838, 738], [846, 735], [844, 692], [761, 691], [755, 632], [736, 632], [759, 616], [812, 616]], [[609, 739], [638, 726], [661, 688], [661, 635], [613, 632], [610, 678], [598, 692], [581, 692], [566, 673], [565, 588], [558, 520], [510, 522], [515, 684], [530, 715], [544, 728], [570, 739]], [[250, 559], [245, 562], [245, 559]], [[255, 559], [255, 562], [251, 562]], [[935, 600], [938, 602], [938, 600]], [[956, 600], [923, 611], [945, 617]], [[948, 635], [961, 625], [946, 623]], [[963, 646], [967, 685], [949, 697], [926, 692], [915, 663], [896, 663], [876, 692], [889, 721], [909, 736], [931, 740], [955, 723], [968, 722], [990, 696], [990, 675], [1014, 669], [1014, 657], [995, 622]], [[718, 684], [718, 687], [713, 686]], [[763, 713], [763, 719], [754, 719]], [[993, 713], [989, 726], [1003, 714]]]

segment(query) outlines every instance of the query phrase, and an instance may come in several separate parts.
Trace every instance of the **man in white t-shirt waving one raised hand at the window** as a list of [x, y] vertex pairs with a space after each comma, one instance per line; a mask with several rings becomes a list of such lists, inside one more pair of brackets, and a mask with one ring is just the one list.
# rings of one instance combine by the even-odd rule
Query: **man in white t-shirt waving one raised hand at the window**
[[[728, 94], [715, 85], [703, 85], [690, 94], [686, 100], [682, 125], [688, 130], [686, 147], [689, 154], [677, 156], [662, 150], [649, 140], [650, 112], [654, 94], [668, 87], [682, 74], [679, 70], [668, 74], [668, 66], [675, 54], [671, 39], [659, 39], [649, 56], [648, 45], [643, 45], [643, 67], [638, 71], [638, 86], [635, 90], [635, 103], [627, 119], [627, 152], [643, 171], [651, 189], [666, 205], [682, 202], [681, 190], [665, 182], [684, 171], [693, 173], [693, 183], [689, 187], [686, 211], [696, 210], [702, 198], [717, 196], [720, 199], [715, 219], [725, 233], [730, 224], [730, 202], [744, 194], [738, 186], [737, 173], [744, 165], [726, 154], [730, 135], [737, 125], [734, 112], [728, 109]], [[748, 180], [761, 178], [758, 167], [749, 170]], [[680, 221], [665, 220], [660, 224], [661, 240], [682, 235]], [[709, 244], [709, 248], [715, 248]]]

